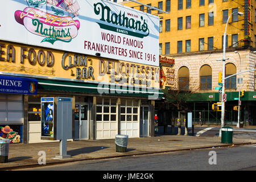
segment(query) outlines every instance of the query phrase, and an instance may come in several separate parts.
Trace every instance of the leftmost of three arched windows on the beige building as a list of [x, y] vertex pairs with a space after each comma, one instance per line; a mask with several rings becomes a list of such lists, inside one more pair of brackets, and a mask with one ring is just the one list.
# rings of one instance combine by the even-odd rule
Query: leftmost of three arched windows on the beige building
[[181, 67], [178, 71], [179, 77], [179, 89], [188, 90], [189, 89], [189, 69], [187, 67]]

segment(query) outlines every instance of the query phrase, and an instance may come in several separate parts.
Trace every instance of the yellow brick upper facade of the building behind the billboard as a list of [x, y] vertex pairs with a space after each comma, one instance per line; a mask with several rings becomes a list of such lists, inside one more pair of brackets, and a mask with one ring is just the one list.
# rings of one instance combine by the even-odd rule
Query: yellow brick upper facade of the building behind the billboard
[[[118, 1], [122, 5], [133, 7], [160, 17], [159, 52], [162, 55], [208, 51], [222, 49], [222, 36], [226, 20], [234, 11], [227, 27], [228, 48], [255, 47], [255, 1], [250, 6], [250, 37], [248, 39], [247, 0], [141, 0], [145, 5], [164, 11], [150, 10], [148, 7], [131, 1]], [[170, 45], [170, 47], [169, 47]]]

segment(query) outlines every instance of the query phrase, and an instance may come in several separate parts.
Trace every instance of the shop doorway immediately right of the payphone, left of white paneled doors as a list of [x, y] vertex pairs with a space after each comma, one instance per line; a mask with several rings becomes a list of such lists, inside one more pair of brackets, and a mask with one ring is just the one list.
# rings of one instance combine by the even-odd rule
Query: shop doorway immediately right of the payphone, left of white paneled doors
[[75, 106], [75, 140], [89, 139], [88, 104]]

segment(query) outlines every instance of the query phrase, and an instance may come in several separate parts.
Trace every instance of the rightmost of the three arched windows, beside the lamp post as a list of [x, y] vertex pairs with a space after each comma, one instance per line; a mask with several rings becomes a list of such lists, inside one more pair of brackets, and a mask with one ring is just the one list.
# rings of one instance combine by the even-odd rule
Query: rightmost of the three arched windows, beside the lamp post
[[[231, 76], [237, 73], [237, 68], [233, 63], [226, 64], [226, 76]], [[226, 89], [236, 89], [237, 88], [237, 76], [232, 76], [226, 78], [225, 80], [225, 88]]]

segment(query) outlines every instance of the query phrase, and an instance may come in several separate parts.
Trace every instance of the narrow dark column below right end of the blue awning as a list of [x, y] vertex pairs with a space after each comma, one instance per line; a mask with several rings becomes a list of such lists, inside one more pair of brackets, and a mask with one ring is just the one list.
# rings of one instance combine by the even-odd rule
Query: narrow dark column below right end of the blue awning
[[23, 96], [23, 143], [28, 144], [28, 95]]

